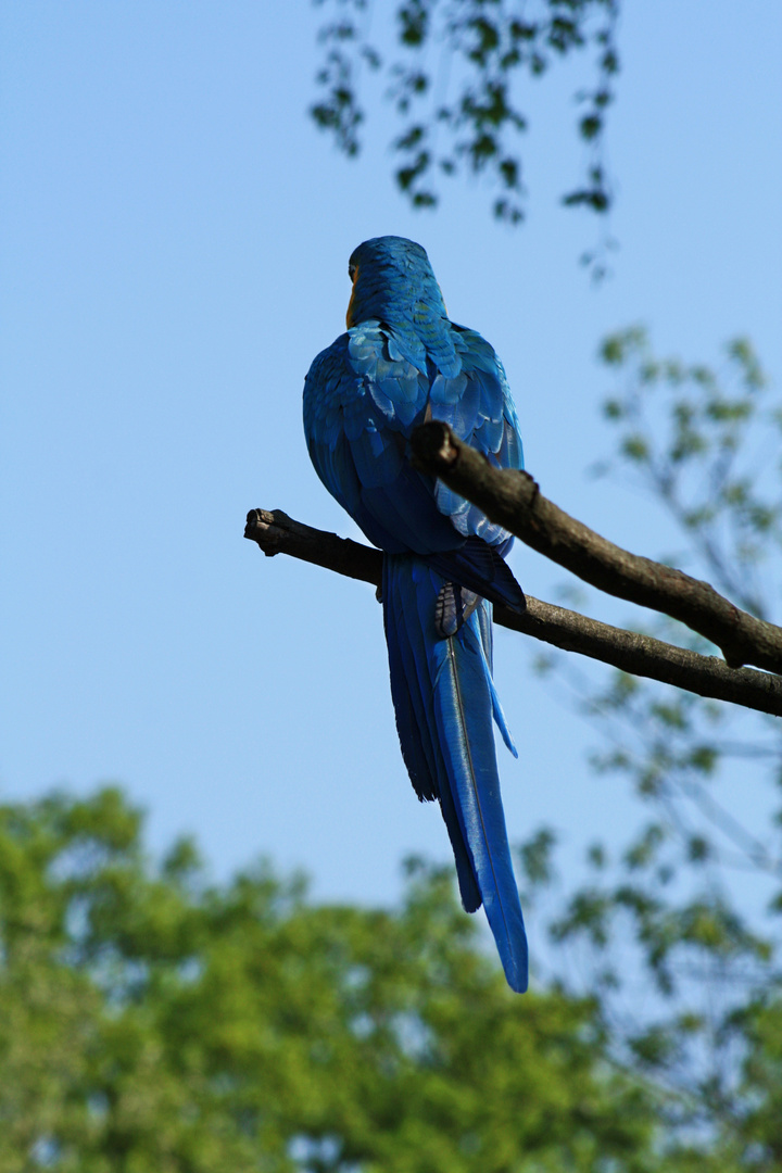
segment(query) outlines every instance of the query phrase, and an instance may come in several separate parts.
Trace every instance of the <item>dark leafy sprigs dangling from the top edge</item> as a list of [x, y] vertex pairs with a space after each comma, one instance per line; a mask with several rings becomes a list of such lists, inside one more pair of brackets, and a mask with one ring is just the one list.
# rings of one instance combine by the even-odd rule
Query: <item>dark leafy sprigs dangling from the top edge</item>
[[[440, 176], [460, 171], [489, 176], [499, 194], [495, 215], [516, 224], [524, 216], [519, 157], [528, 120], [518, 81], [540, 77], [573, 53], [590, 52], [596, 73], [576, 95], [578, 136], [587, 147], [583, 181], [563, 196], [569, 206], [605, 212], [611, 190], [603, 162], [606, 111], [619, 69], [616, 27], [619, 0], [536, 0], [524, 6], [498, 0], [400, 0], [395, 34], [382, 38], [367, 0], [318, 0], [332, 18], [320, 29], [322, 97], [312, 108], [318, 126], [348, 156], [359, 152], [366, 120], [361, 89], [367, 74], [387, 84], [401, 130], [393, 148], [396, 181], [414, 206], [440, 198]], [[388, 41], [381, 49], [378, 38]]]

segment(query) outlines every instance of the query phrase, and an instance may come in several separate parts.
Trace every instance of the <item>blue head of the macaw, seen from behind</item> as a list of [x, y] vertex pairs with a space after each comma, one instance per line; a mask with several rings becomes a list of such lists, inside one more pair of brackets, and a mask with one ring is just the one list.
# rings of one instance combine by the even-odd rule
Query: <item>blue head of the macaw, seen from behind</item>
[[388, 325], [447, 318], [448, 311], [426, 250], [403, 236], [365, 240], [348, 262], [353, 292], [347, 326], [368, 318]]

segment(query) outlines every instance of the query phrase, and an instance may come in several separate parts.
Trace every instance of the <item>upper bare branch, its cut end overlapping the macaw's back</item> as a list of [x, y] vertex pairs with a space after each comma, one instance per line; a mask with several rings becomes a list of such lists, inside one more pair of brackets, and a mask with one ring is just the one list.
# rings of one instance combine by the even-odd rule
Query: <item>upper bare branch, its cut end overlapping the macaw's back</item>
[[782, 672], [782, 628], [742, 611], [698, 578], [614, 545], [543, 496], [529, 473], [495, 468], [433, 420], [412, 436], [413, 463], [584, 582], [662, 611], [721, 649], [727, 664]]

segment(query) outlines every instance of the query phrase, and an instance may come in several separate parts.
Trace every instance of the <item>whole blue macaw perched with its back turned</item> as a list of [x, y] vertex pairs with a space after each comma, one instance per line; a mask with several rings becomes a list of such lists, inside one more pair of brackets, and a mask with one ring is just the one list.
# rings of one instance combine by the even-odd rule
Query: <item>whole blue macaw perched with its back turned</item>
[[382, 604], [396, 728], [413, 787], [440, 801], [462, 903], [483, 903], [505, 976], [528, 951], [499, 794], [491, 718], [518, 757], [491, 679], [491, 602], [525, 605], [504, 562], [512, 537], [416, 472], [409, 436], [435, 419], [499, 468], [522, 468], [502, 362], [450, 321], [426, 251], [365, 240], [348, 263], [347, 333], [312, 364], [304, 428], [328, 491], [385, 551]]

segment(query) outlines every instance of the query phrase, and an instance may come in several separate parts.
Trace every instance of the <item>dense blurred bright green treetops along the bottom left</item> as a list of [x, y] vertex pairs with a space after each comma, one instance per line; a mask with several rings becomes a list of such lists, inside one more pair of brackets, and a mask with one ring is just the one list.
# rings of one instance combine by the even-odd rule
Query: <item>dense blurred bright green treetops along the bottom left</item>
[[512, 995], [450, 869], [318, 907], [140, 829], [114, 789], [0, 808], [1, 1173], [650, 1167], [593, 1001]]

